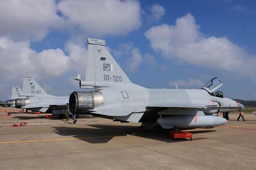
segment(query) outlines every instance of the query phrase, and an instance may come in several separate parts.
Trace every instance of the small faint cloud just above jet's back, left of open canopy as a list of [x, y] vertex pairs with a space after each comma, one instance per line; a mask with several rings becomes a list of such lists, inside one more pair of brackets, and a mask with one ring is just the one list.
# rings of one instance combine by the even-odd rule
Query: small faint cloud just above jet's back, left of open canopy
[[175, 86], [177, 84], [177, 87], [187, 87], [187, 88], [201, 88], [204, 86], [205, 83], [203, 83], [200, 79], [192, 79], [188, 78], [187, 80], [180, 79], [180, 80], [174, 80], [172, 82], [168, 83], [169, 86]]

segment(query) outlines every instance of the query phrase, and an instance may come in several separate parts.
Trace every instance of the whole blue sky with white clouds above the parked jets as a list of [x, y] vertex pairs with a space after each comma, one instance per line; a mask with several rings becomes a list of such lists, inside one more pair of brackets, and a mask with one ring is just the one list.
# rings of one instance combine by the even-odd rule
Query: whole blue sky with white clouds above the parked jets
[[255, 1], [3, 0], [0, 23], [0, 100], [24, 74], [51, 95], [80, 90], [87, 37], [104, 39], [141, 86], [201, 88], [217, 76], [225, 96], [256, 100]]

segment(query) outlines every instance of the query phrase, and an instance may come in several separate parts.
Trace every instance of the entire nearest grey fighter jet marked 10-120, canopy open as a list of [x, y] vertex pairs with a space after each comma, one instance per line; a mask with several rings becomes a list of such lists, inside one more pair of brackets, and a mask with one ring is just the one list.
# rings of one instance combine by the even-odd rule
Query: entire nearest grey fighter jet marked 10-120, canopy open
[[105, 47], [104, 40], [88, 38], [85, 80], [80, 74], [80, 88], [69, 96], [72, 113], [90, 113], [121, 122], [142, 122], [145, 129], [155, 125], [163, 129], [200, 128], [225, 124], [227, 120], [213, 113], [240, 110], [243, 105], [218, 91], [219, 78], [211, 79], [201, 89], [150, 89], [131, 83]]

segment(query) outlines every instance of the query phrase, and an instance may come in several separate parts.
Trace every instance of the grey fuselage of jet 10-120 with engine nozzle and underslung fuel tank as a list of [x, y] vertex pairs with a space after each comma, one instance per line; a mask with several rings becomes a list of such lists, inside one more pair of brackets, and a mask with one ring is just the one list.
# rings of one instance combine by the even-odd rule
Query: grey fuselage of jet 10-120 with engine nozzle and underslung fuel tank
[[221, 125], [226, 120], [212, 114], [221, 112], [222, 107], [225, 111], [238, 107], [234, 100], [212, 96], [201, 89], [149, 89], [135, 84], [132, 87], [124, 85], [94, 92], [78, 92], [76, 97], [73, 95], [69, 98], [71, 111], [87, 111], [119, 121], [157, 122], [169, 129], [175, 125], [179, 128]]

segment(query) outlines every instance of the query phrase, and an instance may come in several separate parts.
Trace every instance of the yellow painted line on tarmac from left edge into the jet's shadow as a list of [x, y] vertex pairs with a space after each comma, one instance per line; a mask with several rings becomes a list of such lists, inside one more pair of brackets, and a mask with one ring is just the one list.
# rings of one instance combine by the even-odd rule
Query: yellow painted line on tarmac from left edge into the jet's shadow
[[10, 141], [10, 142], [0, 142], [0, 144], [5, 144], [5, 143], [28, 143], [28, 142], [49, 142], [49, 141], [66, 141], [66, 140], [110, 138], [110, 137], [113, 138], [114, 136], [84, 137], [84, 138], [42, 139], [42, 140], [34, 140], [34, 141]]

